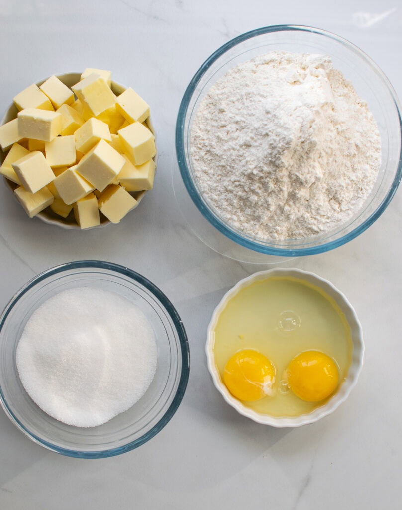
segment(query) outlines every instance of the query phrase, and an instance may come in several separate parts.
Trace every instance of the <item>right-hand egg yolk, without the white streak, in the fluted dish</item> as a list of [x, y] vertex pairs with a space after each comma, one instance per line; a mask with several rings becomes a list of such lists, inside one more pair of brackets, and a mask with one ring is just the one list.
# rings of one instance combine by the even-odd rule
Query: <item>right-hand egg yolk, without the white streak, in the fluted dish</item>
[[307, 402], [319, 402], [329, 397], [339, 380], [335, 361], [316, 350], [295, 356], [287, 366], [286, 375], [290, 390]]

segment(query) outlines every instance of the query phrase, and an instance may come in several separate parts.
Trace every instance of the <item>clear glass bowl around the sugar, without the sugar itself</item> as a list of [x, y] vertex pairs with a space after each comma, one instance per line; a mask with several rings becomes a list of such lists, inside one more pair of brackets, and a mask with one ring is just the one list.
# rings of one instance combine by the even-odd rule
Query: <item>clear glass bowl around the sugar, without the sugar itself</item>
[[[132, 301], [155, 334], [157, 367], [144, 396], [103, 425], [74, 427], [44, 413], [22, 387], [15, 361], [18, 341], [32, 313], [51, 296], [76, 287], [100, 288]], [[26, 284], [0, 319], [0, 403], [10, 420], [49, 450], [81, 458], [118, 455], [155, 436], [172, 418], [189, 378], [187, 337], [172, 303], [151, 282], [125, 267], [98, 261], [49, 269]]]

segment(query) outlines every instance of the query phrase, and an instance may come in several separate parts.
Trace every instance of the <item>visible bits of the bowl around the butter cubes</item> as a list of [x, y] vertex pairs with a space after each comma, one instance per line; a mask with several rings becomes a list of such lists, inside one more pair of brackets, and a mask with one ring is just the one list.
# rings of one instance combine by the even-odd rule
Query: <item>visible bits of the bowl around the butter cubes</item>
[[[59, 78], [59, 80], [61, 82], [63, 82], [64, 85], [67, 85], [67, 87], [71, 88], [73, 85], [75, 85], [77, 82], [79, 82], [79, 80], [81, 79], [81, 73], [79, 73], [79, 72], [66, 72], [66, 73], [63, 73], [63, 74], [57, 74], [57, 78]], [[38, 85], [38, 87], [39, 87], [46, 80], [47, 80], [47, 78], [45, 78], [44, 80], [40, 80], [39, 82], [36, 83], [36, 85]], [[112, 91], [116, 95], [120, 95], [122, 92], [124, 92], [126, 90], [126, 88], [127, 88], [126, 86], [121, 85], [121, 84], [119, 84], [119, 83], [117, 83], [117, 82], [112, 80], [111, 89], [112, 89]], [[5, 124], [6, 122], [9, 122], [10, 120], [15, 119], [17, 117], [17, 114], [18, 114], [17, 107], [14, 105], [14, 103], [12, 103], [8, 107], [6, 113], [4, 114], [3, 119], [0, 121], [0, 125]], [[155, 137], [156, 155], [154, 156], [153, 160], [157, 164], [157, 160], [158, 160], [157, 140], [156, 140], [156, 135], [155, 135], [154, 127], [153, 127], [153, 123], [152, 123], [152, 120], [151, 120], [150, 116], [147, 119], [147, 125], [148, 125], [150, 131], [152, 131], [152, 134]], [[0, 148], [0, 165], [3, 164], [4, 160], [7, 157], [7, 154], [8, 154], [8, 151], [3, 152], [3, 150]], [[4, 177], [4, 181], [5, 181], [6, 185], [13, 192], [14, 192], [15, 188], [18, 187], [17, 184], [15, 184], [12, 181], [8, 180], [6, 177]], [[132, 195], [137, 200], [136, 208], [139, 206], [139, 203], [144, 198], [146, 193], [147, 193], [146, 190], [130, 192], [130, 195]], [[13, 195], [14, 195], [14, 193], [13, 193]], [[15, 197], [15, 199], [17, 200], [16, 197]], [[40, 220], [44, 221], [45, 223], [49, 223], [51, 225], [57, 225], [57, 226], [60, 226], [62, 228], [67, 228], [67, 229], [76, 228], [78, 230], [81, 230], [79, 225], [75, 221], [74, 214], [73, 214], [72, 211], [70, 212], [70, 214], [66, 218], [63, 218], [62, 216], [60, 216], [60, 215], [56, 214], [55, 212], [53, 212], [50, 209], [50, 207], [47, 207], [46, 209], [44, 209], [43, 211], [41, 211], [40, 213], [35, 215], [35, 218], [39, 218]], [[111, 221], [108, 218], [106, 218], [106, 216], [104, 216], [103, 214], [100, 214], [100, 225], [96, 225], [96, 226], [90, 227], [90, 228], [98, 228], [98, 227], [102, 227], [102, 226], [105, 226], [105, 225], [109, 225], [110, 223], [111, 223]]]

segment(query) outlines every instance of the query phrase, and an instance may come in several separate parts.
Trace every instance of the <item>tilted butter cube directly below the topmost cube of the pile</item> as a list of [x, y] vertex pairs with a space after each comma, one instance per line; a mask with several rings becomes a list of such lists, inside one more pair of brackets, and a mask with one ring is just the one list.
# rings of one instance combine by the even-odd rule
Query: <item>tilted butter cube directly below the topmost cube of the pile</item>
[[77, 98], [90, 109], [94, 117], [116, 103], [115, 94], [99, 74], [89, 74], [71, 88]]

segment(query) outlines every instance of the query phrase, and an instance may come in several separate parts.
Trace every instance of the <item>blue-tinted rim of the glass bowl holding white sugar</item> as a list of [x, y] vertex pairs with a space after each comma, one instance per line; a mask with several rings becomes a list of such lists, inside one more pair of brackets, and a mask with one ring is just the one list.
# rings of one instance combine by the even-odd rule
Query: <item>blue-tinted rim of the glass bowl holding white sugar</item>
[[126, 451], [133, 450], [134, 448], [137, 448], [138, 446], [141, 446], [142, 444], [149, 441], [151, 438], [153, 438], [160, 430], [164, 428], [164, 426], [170, 421], [170, 419], [173, 417], [175, 412], [178, 409], [178, 406], [181, 403], [181, 400], [183, 399], [185, 389], [187, 386], [187, 382], [189, 380], [189, 373], [190, 373], [190, 350], [189, 350], [189, 342], [187, 339], [187, 335], [185, 333], [185, 329], [183, 326], [183, 323], [174, 308], [171, 301], [167, 298], [167, 296], [158, 288], [156, 287], [152, 282], [150, 282], [146, 277], [142, 276], [141, 274], [137, 273], [136, 271], [133, 271], [127, 267], [123, 267], [119, 264], [114, 264], [111, 262], [103, 262], [103, 261], [96, 261], [96, 260], [86, 260], [86, 261], [76, 261], [76, 262], [69, 262], [66, 264], [62, 264], [50, 269], [47, 269], [40, 274], [36, 275], [34, 278], [32, 278], [28, 283], [26, 283], [23, 287], [20, 288], [19, 291], [11, 298], [11, 300], [6, 305], [1, 317], [0, 317], [0, 333], [3, 330], [3, 326], [5, 321], [7, 320], [8, 315], [10, 314], [11, 310], [14, 308], [14, 305], [20, 300], [20, 298], [25, 295], [28, 291], [36, 287], [41, 282], [45, 281], [47, 278], [53, 278], [57, 275], [66, 273], [68, 271], [74, 270], [74, 269], [98, 269], [100, 271], [106, 270], [110, 271], [112, 273], [118, 273], [122, 274], [124, 276], [129, 277], [133, 281], [141, 284], [147, 291], [149, 291], [159, 302], [162, 304], [163, 308], [168, 313], [170, 319], [173, 322], [173, 325], [175, 327], [176, 333], [178, 335], [178, 340], [180, 344], [180, 352], [181, 352], [181, 367], [180, 367], [180, 377], [179, 382], [176, 390], [176, 394], [169, 405], [166, 413], [159, 419], [159, 421], [153, 425], [153, 427], [148, 430], [143, 436], [140, 438], [131, 441], [127, 443], [126, 445], [119, 446], [116, 448], [108, 448], [105, 450], [96, 450], [96, 451], [78, 451], [73, 450], [69, 448], [63, 448], [61, 446], [54, 445], [48, 441], [45, 441], [39, 437], [37, 437], [33, 432], [31, 432], [28, 428], [24, 426], [23, 423], [18, 420], [18, 418], [14, 415], [12, 409], [10, 409], [10, 406], [6, 402], [3, 394], [3, 389], [0, 386], [0, 406], [3, 407], [6, 415], [10, 418], [10, 420], [14, 423], [14, 425], [21, 430], [25, 436], [28, 436], [32, 441], [35, 443], [44, 446], [45, 448], [55, 451], [57, 453], [61, 453], [63, 455], [67, 455], [70, 457], [77, 457], [77, 458], [105, 458], [105, 457], [111, 457], [114, 455], [119, 455], [121, 453], [124, 453]]

